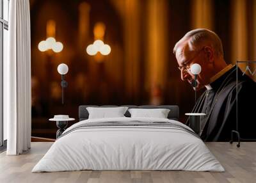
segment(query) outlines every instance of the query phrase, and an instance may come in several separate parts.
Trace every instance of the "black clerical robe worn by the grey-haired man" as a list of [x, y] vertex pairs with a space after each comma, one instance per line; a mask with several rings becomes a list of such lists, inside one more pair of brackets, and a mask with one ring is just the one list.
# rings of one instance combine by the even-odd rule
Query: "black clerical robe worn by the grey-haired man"
[[[238, 84], [236, 88], [236, 74]], [[236, 90], [238, 91], [238, 131], [241, 138], [256, 139], [256, 84], [236, 66], [228, 65], [214, 76], [193, 108], [201, 117], [200, 137], [204, 141], [229, 141], [236, 130]]]

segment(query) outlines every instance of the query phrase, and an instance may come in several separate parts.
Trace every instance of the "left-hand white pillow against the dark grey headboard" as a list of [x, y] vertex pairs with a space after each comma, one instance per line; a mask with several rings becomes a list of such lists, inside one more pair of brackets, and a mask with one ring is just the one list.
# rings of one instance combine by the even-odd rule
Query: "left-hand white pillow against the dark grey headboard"
[[95, 118], [120, 118], [125, 117], [124, 114], [128, 107], [86, 107], [89, 113], [89, 119]]

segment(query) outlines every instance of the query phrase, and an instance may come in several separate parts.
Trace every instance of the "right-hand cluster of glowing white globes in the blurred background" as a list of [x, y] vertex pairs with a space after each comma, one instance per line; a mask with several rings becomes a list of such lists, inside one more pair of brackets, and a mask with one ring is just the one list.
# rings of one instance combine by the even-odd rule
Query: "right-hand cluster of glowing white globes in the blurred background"
[[102, 55], [108, 55], [111, 52], [111, 47], [107, 44], [104, 44], [102, 40], [95, 40], [93, 44], [86, 47], [86, 52], [88, 55], [96, 55], [97, 52], [100, 52]]

